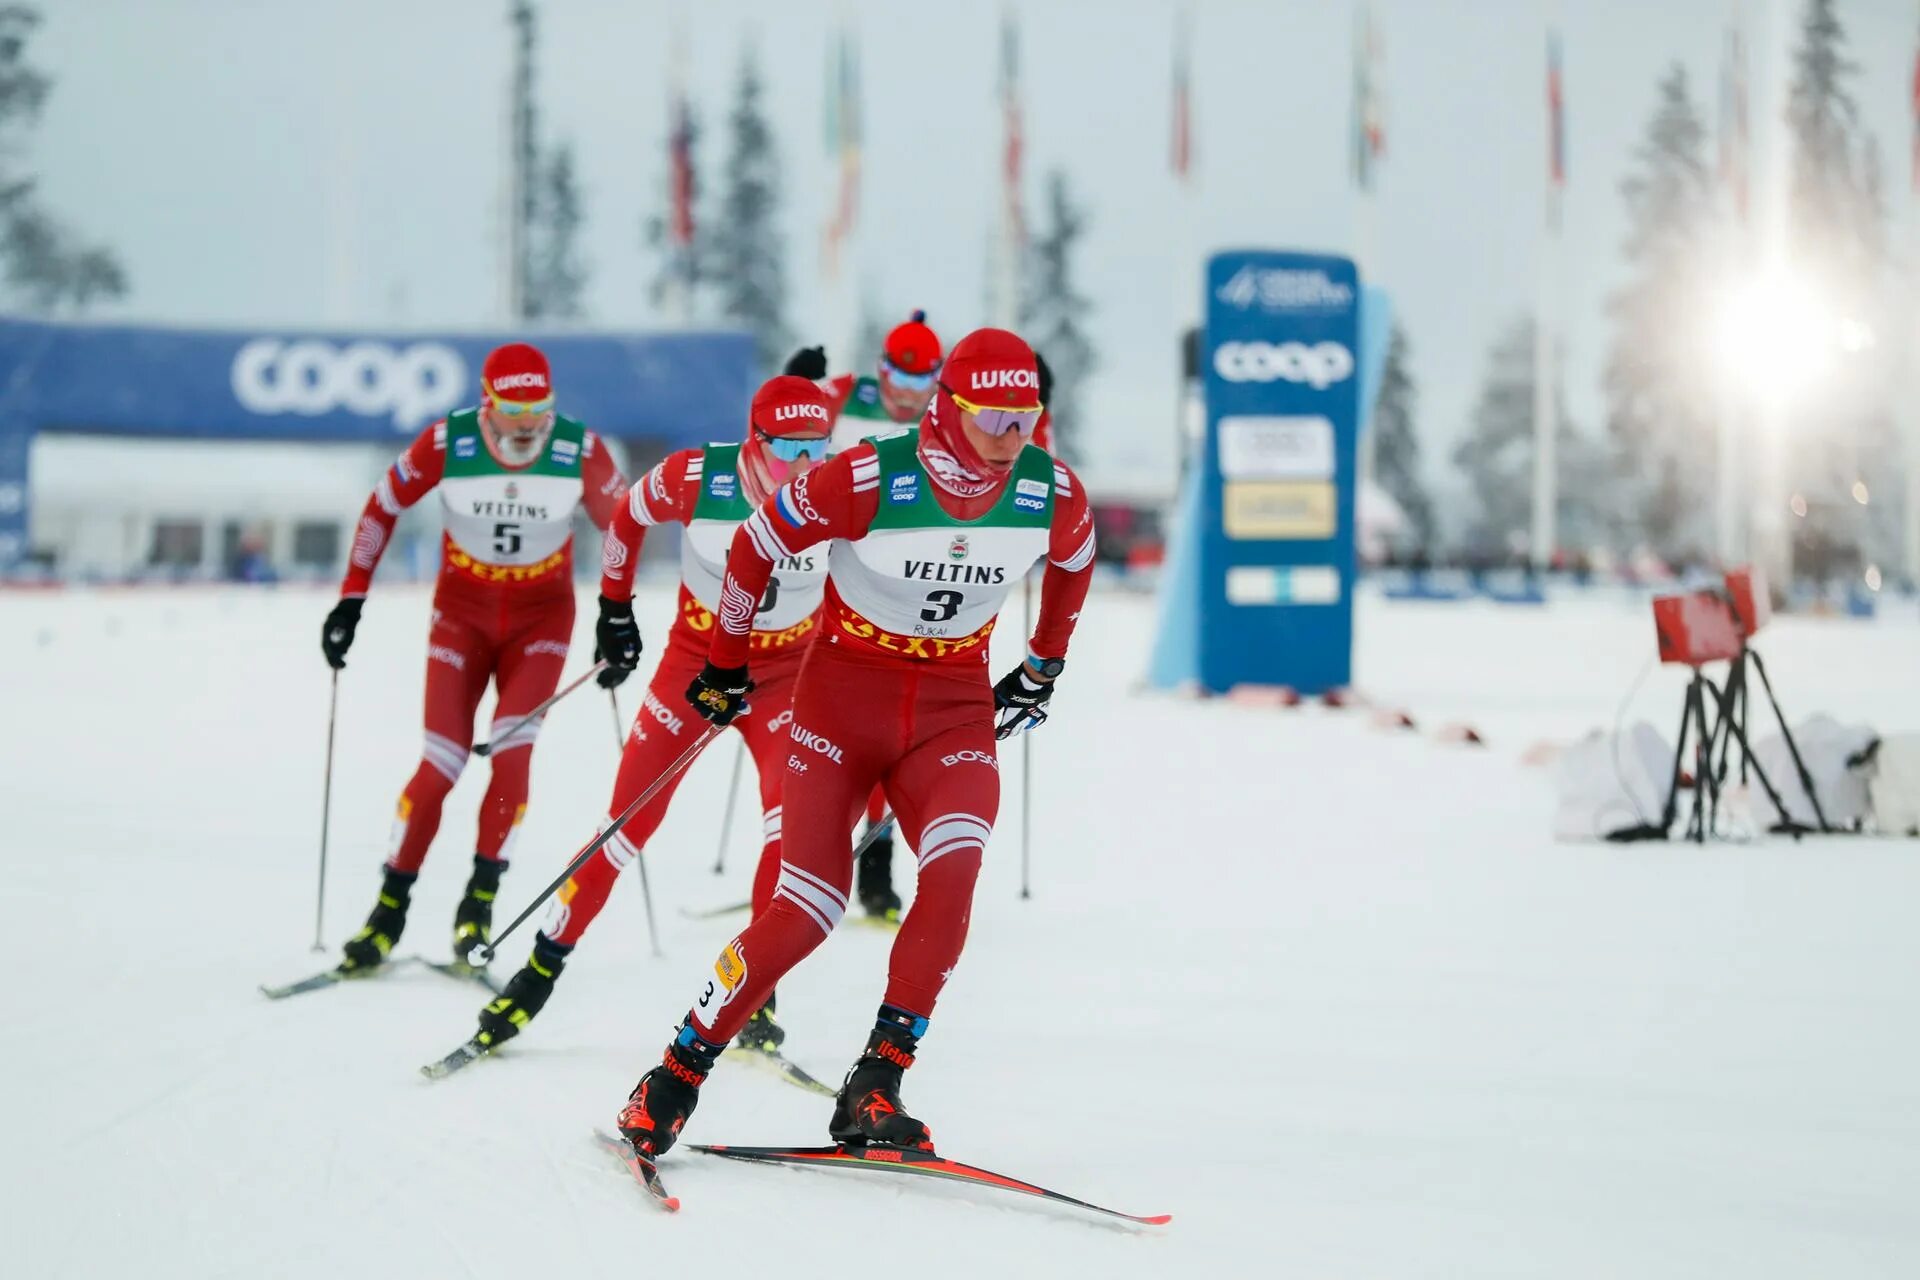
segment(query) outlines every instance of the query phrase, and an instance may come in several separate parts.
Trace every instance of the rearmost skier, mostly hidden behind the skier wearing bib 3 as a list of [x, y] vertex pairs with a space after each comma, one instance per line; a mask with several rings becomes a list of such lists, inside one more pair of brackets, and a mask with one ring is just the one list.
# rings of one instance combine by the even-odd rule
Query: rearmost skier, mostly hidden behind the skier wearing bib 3
[[[879, 349], [872, 376], [852, 372], [828, 378], [826, 347], [801, 347], [787, 359], [787, 372], [820, 382], [833, 411], [833, 453], [843, 453], [876, 432], [889, 432], [920, 420], [933, 399], [933, 380], [941, 368], [941, 338], [927, 328], [927, 313], [916, 311], [895, 324]], [[866, 806], [868, 825], [887, 808], [877, 791]], [[876, 919], [900, 919], [900, 894], [893, 889], [893, 835], [881, 835], [860, 850], [854, 867], [854, 894], [860, 910]]]

